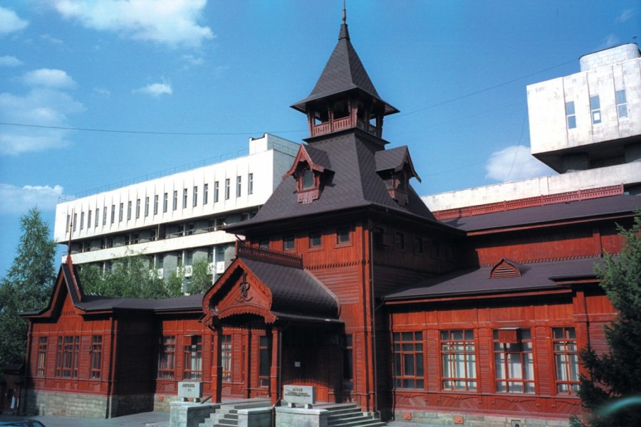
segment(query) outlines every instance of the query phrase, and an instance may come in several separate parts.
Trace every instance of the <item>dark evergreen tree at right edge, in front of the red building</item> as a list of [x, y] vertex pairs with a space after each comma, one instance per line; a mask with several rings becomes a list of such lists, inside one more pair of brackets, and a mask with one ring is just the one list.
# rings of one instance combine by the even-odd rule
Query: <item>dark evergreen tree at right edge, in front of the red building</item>
[[[610, 352], [583, 349], [589, 376], [581, 377], [579, 396], [592, 427], [641, 426], [641, 214], [630, 230], [619, 227], [625, 243], [618, 255], [606, 255], [597, 269], [601, 286], [617, 310], [605, 328]], [[578, 418], [572, 426], [585, 426]]]

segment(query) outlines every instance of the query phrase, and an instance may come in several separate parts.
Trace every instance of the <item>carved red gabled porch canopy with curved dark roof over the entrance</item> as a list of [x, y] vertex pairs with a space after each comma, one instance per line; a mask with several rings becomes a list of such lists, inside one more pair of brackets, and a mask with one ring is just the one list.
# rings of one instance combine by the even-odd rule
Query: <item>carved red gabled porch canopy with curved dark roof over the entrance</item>
[[268, 326], [286, 319], [338, 322], [339, 305], [301, 258], [239, 245], [236, 260], [204, 295], [202, 310], [209, 327]]

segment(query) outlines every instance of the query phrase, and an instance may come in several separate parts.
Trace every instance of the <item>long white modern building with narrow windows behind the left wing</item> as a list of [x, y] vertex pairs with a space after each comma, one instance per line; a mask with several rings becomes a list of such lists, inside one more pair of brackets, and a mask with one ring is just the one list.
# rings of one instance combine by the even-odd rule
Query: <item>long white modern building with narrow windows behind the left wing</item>
[[179, 271], [187, 283], [194, 260], [206, 258], [215, 280], [234, 256], [236, 237], [225, 226], [256, 214], [297, 151], [265, 134], [249, 139], [244, 157], [65, 201], [56, 206], [54, 238], [68, 244], [71, 233], [77, 265], [110, 270], [113, 260], [142, 254], [159, 275]]

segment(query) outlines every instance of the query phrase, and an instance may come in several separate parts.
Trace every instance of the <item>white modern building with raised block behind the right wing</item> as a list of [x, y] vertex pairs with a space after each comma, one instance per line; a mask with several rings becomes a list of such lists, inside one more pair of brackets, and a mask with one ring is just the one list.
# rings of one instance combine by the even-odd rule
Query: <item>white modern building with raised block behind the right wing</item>
[[423, 196], [432, 211], [621, 185], [641, 193], [641, 52], [582, 56], [580, 72], [528, 85], [532, 155], [558, 172]]

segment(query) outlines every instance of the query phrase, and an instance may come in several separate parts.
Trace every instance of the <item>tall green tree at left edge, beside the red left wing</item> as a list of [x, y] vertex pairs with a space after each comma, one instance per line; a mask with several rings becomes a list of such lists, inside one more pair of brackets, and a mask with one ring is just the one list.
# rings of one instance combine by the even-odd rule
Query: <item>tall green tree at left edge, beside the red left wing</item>
[[46, 307], [56, 280], [56, 242], [41, 211], [21, 216], [20, 228], [16, 258], [0, 283], [0, 366], [24, 361], [27, 324], [19, 313]]

